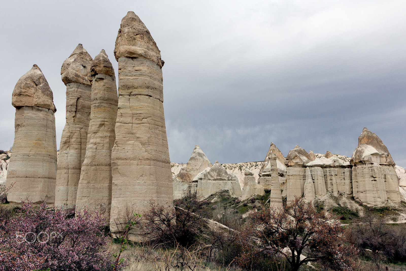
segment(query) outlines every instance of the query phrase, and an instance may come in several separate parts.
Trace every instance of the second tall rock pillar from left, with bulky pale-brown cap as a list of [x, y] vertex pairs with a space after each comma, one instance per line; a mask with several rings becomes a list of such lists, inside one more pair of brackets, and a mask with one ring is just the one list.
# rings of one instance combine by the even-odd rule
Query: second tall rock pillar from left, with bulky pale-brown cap
[[90, 121], [92, 57], [79, 44], [66, 59], [60, 74], [66, 85], [66, 124], [60, 139], [55, 205], [72, 207], [80, 169], [86, 154], [87, 132]]

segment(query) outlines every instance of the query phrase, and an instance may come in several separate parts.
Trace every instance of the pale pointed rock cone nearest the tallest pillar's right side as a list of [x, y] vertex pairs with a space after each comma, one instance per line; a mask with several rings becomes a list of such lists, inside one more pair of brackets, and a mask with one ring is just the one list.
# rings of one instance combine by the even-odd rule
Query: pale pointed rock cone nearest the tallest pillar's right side
[[185, 167], [179, 169], [179, 172], [173, 179], [173, 198], [179, 199], [182, 197], [185, 190], [190, 191], [192, 186], [194, 186], [193, 184], [190, 184], [193, 178], [207, 167], [212, 167], [212, 163], [207, 159], [207, 156], [201, 150], [199, 145], [195, 145], [188, 163]]

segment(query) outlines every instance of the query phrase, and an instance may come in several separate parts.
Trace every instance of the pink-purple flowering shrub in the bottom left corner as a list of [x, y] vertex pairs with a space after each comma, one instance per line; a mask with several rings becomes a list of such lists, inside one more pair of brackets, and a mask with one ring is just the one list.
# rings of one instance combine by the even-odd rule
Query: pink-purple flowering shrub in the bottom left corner
[[104, 271], [112, 269], [103, 234], [105, 219], [85, 209], [34, 207], [24, 203], [0, 232], [0, 270]]

